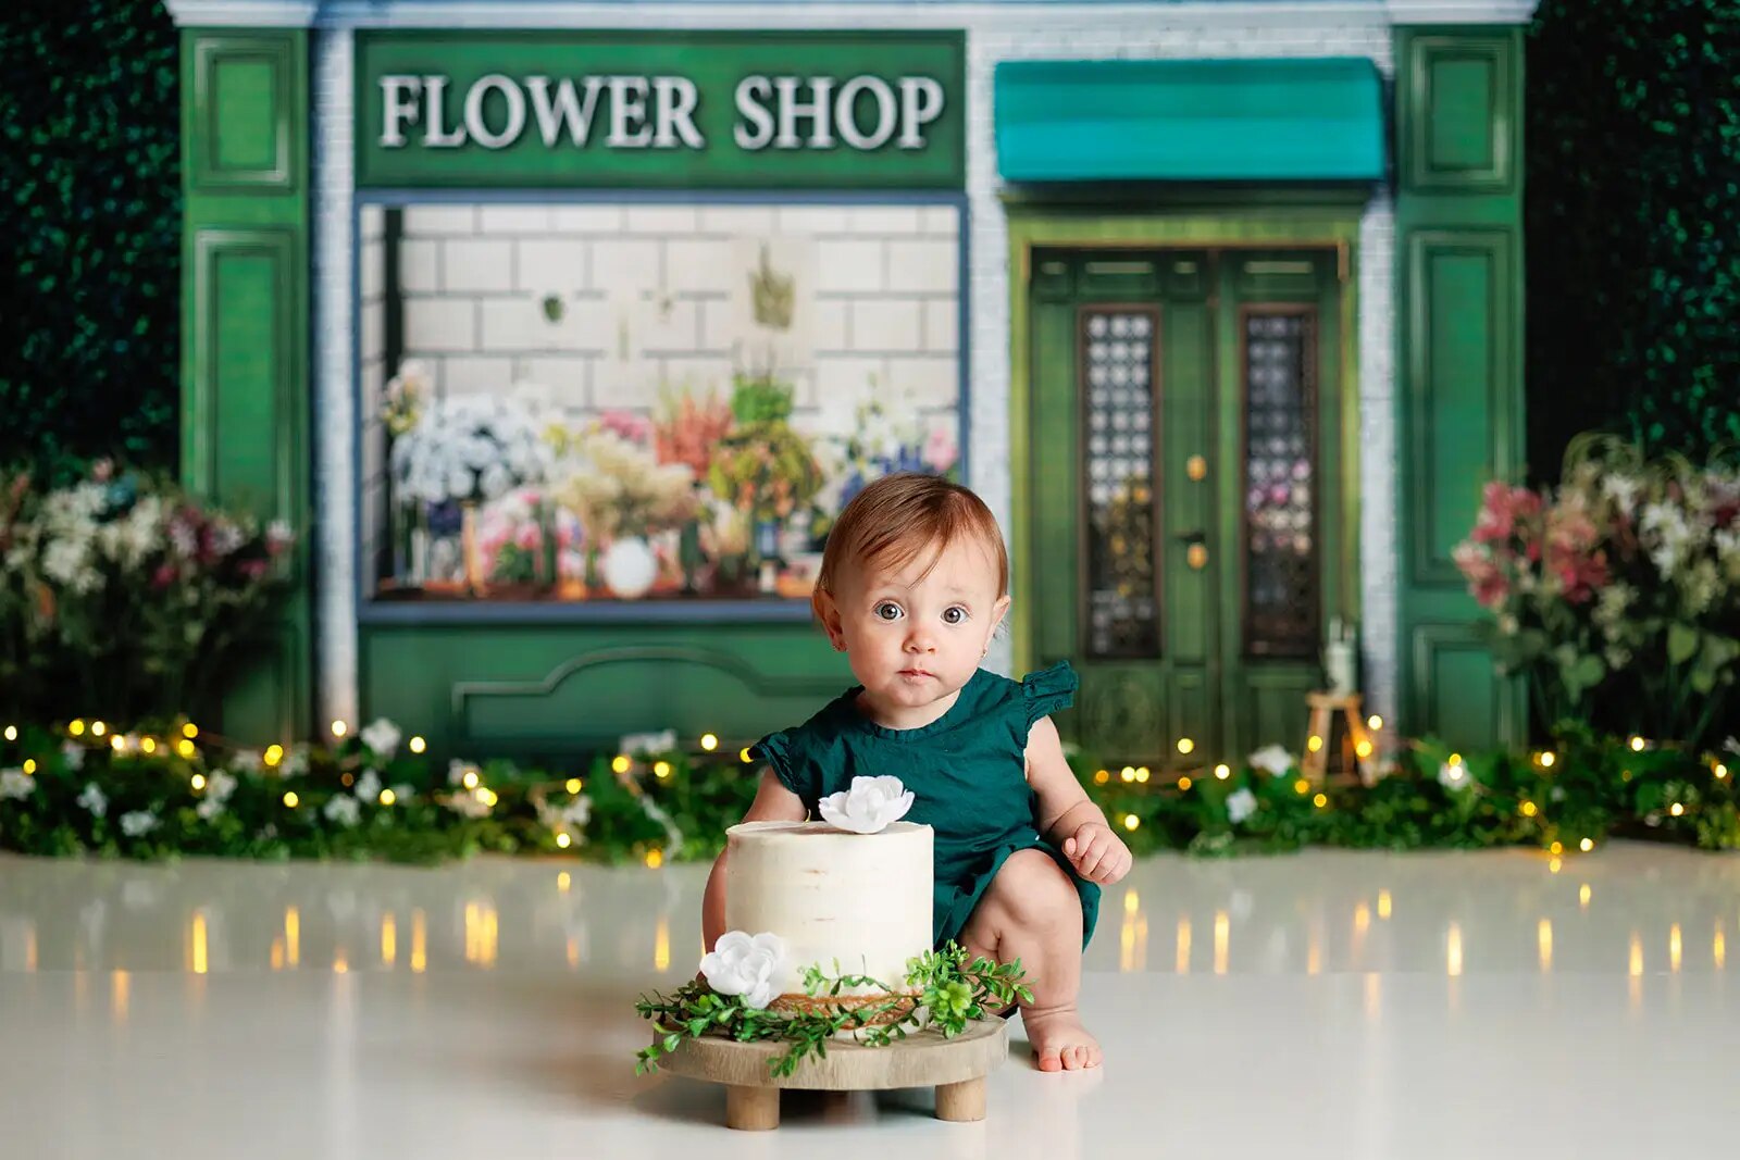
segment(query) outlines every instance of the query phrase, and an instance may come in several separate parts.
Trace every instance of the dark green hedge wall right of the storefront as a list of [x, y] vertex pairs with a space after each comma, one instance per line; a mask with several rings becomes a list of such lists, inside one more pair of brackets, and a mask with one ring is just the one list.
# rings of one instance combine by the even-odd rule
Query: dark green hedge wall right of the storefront
[[1740, 3], [1543, 0], [1528, 40], [1529, 463], [1740, 442]]

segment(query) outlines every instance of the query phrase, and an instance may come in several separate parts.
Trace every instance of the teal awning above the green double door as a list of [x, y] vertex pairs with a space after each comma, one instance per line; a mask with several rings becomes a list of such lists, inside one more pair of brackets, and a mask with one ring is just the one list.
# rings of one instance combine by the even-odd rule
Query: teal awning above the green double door
[[1362, 57], [1004, 61], [1004, 181], [1375, 181], [1383, 85]]

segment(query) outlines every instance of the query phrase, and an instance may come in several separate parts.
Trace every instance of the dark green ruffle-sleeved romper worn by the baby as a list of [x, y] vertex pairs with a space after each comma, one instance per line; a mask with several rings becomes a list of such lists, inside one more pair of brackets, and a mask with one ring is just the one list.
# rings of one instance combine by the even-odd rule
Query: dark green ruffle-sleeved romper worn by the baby
[[1016, 850], [1041, 849], [1082, 899], [1082, 946], [1100, 913], [1100, 887], [1075, 877], [1063, 852], [1034, 828], [1037, 798], [1027, 784], [1027, 732], [1075, 699], [1068, 661], [1014, 682], [978, 670], [947, 713], [919, 729], [884, 729], [858, 711], [863, 687], [847, 689], [797, 729], [767, 734], [752, 755], [767, 762], [811, 817], [853, 777], [893, 774], [912, 790], [903, 821], [931, 826], [936, 850], [931, 934], [959, 941], [973, 908]]

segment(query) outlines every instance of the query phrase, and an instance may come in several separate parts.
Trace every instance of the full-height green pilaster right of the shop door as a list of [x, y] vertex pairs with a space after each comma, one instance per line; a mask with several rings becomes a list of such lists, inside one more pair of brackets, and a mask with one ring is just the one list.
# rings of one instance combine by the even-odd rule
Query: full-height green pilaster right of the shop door
[[1476, 638], [1451, 560], [1481, 485], [1522, 466], [1522, 54], [1517, 30], [1397, 33], [1401, 720], [1516, 744], [1524, 690]]

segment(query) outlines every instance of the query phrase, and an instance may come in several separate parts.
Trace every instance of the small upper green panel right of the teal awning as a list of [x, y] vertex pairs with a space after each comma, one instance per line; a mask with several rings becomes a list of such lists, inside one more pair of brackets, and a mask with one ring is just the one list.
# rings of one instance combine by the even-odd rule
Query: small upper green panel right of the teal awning
[[1397, 115], [1408, 184], [1514, 193], [1521, 57], [1512, 35], [1422, 35], [1406, 45]]

